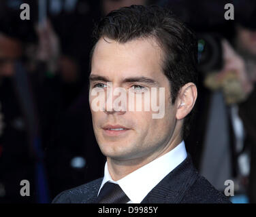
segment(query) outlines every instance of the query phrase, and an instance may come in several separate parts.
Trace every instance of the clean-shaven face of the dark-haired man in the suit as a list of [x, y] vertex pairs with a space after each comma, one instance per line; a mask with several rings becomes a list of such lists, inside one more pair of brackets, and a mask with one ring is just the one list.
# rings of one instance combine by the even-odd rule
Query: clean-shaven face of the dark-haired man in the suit
[[[170, 144], [176, 126], [176, 106], [171, 103], [170, 83], [161, 69], [162, 51], [154, 39], [118, 43], [107, 38], [106, 41], [101, 38], [97, 42], [90, 75], [90, 78], [104, 77], [106, 80], [90, 79], [89, 97], [93, 129], [101, 152], [117, 160], [154, 158]], [[140, 77], [151, 79], [155, 83], [136, 81]], [[161, 119], [153, 119], [153, 113], [156, 112], [151, 108], [150, 111], [144, 111], [143, 106], [142, 111], [93, 111], [92, 102], [96, 96], [91, 95], [92, 89], [101, 88], [106, 96], [107, 81], [112, 82], [113, 90], [123, 87], [128, 92], [129, 88], [133, 88], [135, 96], [142, 94], [142, 87], [148, 87], [150, 92], [151, 87], [156, 87], [157, 102], [161, 97], [159, 87], [164, 87], [162, 97], [165, 101], [165, 115]], [[112, 94], [113, 101], [117, 97]], [[128, 104], [129, 102], [127, 107]], [[108, 130], [107, 125], [122, 125], [128, 130]]]

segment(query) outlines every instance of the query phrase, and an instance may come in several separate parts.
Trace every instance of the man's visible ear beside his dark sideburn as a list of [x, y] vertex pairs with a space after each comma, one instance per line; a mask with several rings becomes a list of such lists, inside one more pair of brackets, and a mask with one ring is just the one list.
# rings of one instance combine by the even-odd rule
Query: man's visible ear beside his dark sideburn
[[178, 98], [176, 99], [176, 119], [180, 120], [185, 118], [193, 109], [195, 105], [195, 100], [197, 99], [197, 87], [194, 83], [186, 83], [183, 87], [181, 87], [180, 92], [178, 94]]

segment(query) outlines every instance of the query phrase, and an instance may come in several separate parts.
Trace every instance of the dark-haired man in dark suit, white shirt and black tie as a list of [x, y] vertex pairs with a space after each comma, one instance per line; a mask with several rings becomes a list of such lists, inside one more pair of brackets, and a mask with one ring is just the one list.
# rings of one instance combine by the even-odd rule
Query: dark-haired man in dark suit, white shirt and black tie
[[[95, 136], [107, 157], [105, 174], [64, 191], [53, 203], [229, 203], [199, 176], [182, 140], [197, 98], [192, 31], [167, 9], [132, 5], [103, 18], [95, 38], [89, 102]], [[114, 92], [125, 90], [128, 99], [123, 95], [121, 107], [110, 85]], [[139, 98], [137, 108], [153, 90], [162, 117], [154, 118], [152, 98], [151, 109], [146, 104], [141, 111], [130, 109], [128, 92]]]

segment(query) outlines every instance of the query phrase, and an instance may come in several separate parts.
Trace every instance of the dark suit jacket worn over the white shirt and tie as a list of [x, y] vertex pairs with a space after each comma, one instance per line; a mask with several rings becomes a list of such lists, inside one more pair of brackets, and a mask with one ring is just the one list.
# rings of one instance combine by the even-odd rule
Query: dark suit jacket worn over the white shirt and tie
[[[52, 203], [95, 203], [102, 178], [63, 191]], [[224, 183], [223, 183], [224, 184]], [[191, 156], [180, 163], [155, 186], [142, 203], [231, 203], [210, 182], [200, 176]]]

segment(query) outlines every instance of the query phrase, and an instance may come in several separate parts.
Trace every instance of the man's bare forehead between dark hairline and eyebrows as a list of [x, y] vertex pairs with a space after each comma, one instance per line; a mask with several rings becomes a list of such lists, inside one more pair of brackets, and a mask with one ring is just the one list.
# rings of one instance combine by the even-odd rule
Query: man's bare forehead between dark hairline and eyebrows
[[101, 38], [95, 46], [91, 74], [108, 77], [156, 77], [161, 72], [161, 54], [158, 45], [150, 39], [134, 39], [119, 43]]

